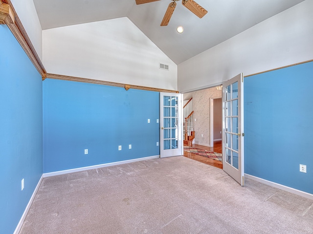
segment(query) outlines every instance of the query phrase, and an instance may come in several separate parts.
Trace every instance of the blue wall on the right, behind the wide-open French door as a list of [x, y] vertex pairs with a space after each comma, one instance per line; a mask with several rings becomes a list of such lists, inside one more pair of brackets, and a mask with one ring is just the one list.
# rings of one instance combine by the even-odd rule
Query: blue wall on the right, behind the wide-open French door
[[313, 194], [312, 87], [313, 62], [245, 78], [245, 173]]

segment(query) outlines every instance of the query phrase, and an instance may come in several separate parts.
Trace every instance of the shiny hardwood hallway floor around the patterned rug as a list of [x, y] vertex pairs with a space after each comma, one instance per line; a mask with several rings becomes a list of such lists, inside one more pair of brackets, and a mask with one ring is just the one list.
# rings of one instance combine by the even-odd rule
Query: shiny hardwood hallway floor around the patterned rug
[[[208, 146], [203, 146], [203, 145], [198, 145], [198, 144], [193, 144], [192, 147], [202, 149], [202, 150], [213, 151], [213, 152], [222, 154], [222, 141], [221, 140], [220, 141], [214, 141], [213, 147], [208, 147]], [[184, 151], [184, 156], [189, 157], [191, 159], [194, 159], [196, 161], [203, 162], [205, 164], [223, 169], [223, 163], [219, 160], [215, 160], [215, 159], [211, 159], [208, 157], [196, 155], [196, 154], [189, 153], [186, 151]]]

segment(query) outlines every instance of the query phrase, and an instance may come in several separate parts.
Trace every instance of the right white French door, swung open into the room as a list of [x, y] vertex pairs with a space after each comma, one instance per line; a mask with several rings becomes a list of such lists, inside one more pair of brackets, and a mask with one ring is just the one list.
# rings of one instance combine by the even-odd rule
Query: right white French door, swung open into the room
[[244, 186], [244, 74], [223, 83], [223, 170]]

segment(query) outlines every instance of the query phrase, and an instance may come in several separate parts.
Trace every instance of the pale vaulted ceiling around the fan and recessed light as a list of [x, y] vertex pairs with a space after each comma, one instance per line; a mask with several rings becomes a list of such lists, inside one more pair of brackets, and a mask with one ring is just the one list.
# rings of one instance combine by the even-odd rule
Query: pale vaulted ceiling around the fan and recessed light
[[[168, 26], [160, 26], [171, 0], [34, 0], [42, 29], [128, 17], [179, 64], [303, 0], [196, 0], [208, 13], [198, 18], [177, 2]], [[184, 27], [182, 34], [176, 28]]]

